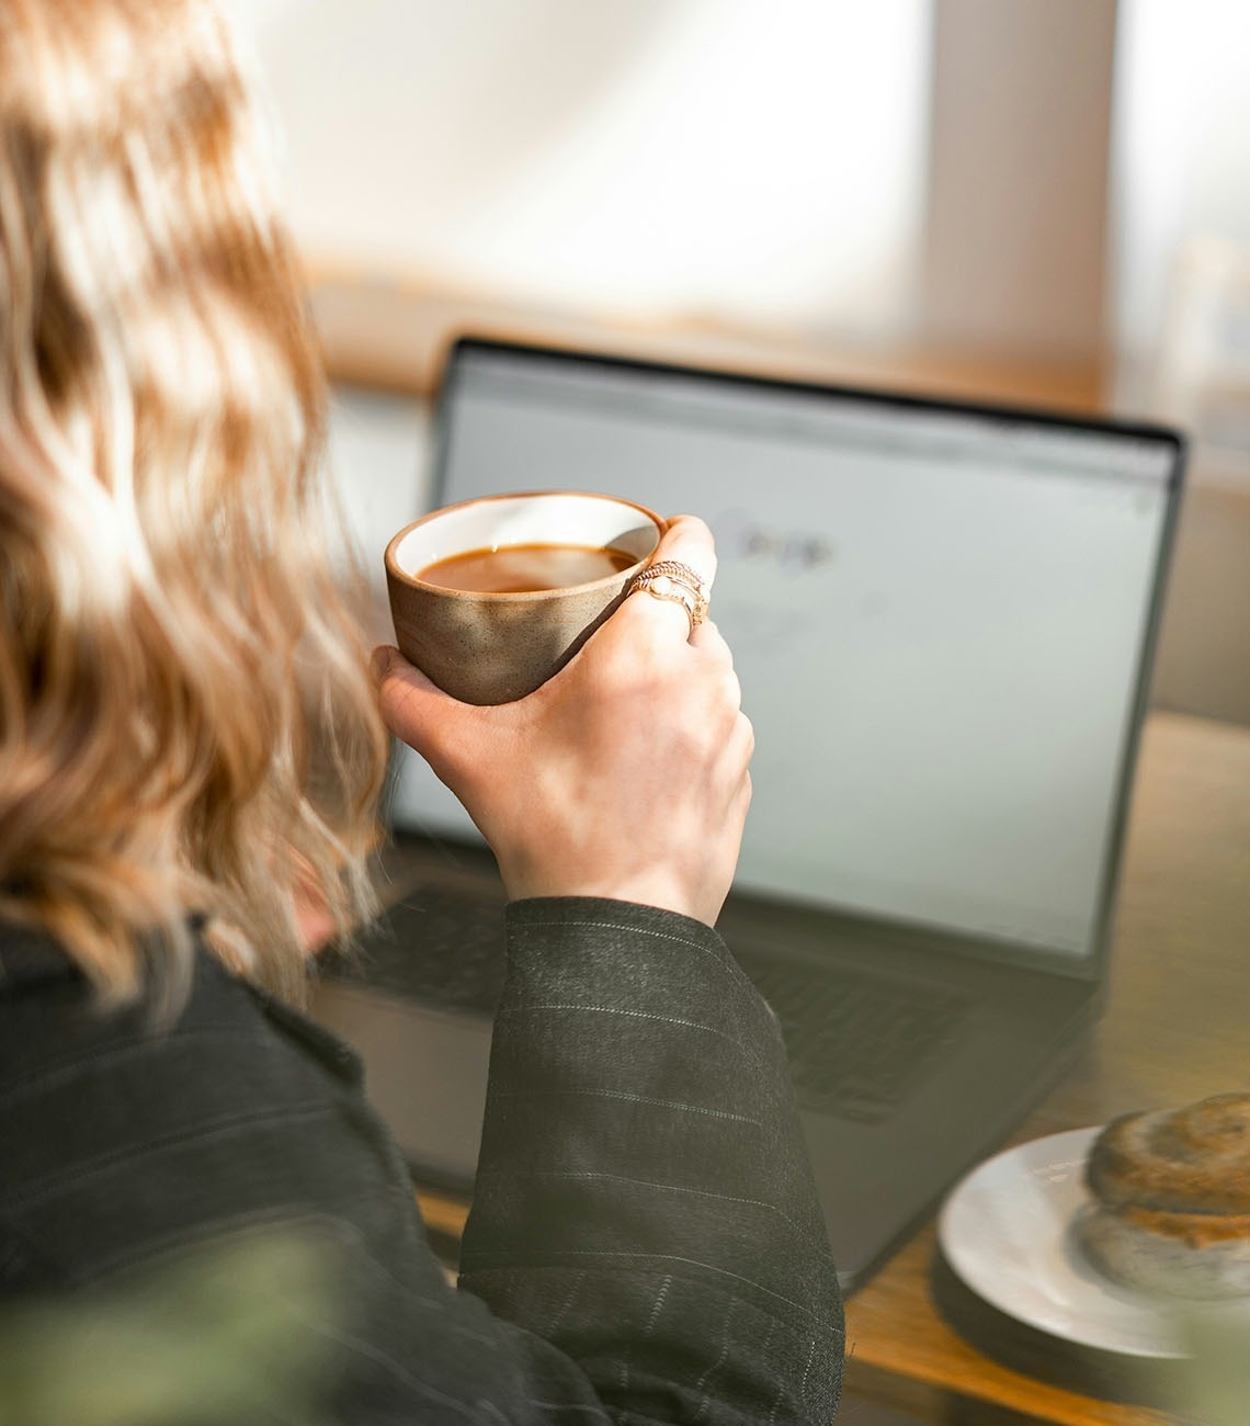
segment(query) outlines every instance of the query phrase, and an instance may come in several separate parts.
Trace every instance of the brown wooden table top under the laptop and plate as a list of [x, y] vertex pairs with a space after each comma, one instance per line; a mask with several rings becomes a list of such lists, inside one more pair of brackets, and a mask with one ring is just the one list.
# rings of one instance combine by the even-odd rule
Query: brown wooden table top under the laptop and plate
[[[1015, 1142], [1250, 1088], [1250, 729], [1146, 726], [1106, 1012]], [[456, 1236], [465, 1205], [419, 1194]], [[924, 1228], [847, 1303], [847, 1385], [941, 1426], [1160, 1426], [1173, 1417], [1048, 1386], [961, 1339], [929, 1291]], [[854, 1412], [847, 1415], [854, 1426]], [[1250, 1420], [1250, 1406], [1247, 1406]]]

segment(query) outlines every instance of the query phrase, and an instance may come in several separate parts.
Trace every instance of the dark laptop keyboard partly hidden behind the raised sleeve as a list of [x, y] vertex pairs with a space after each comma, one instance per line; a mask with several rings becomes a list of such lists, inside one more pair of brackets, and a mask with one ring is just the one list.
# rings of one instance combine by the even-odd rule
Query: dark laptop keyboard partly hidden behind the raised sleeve
[[[955, 1042], [966, 1001], [934, 985], [822, 968], [818, 977], [738, 955], [777, 1012], [798, 1102], [874, 1124], [919, 1085]], [[503, 907], [476, 891], [425, 886], [362, 937], [356, 957], [328, 957], [322, 974], [492, 1015], [503, 990]]]

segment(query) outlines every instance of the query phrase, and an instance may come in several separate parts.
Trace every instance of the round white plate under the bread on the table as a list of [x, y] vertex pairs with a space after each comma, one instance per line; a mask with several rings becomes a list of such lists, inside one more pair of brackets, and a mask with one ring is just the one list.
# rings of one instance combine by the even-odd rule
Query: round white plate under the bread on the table
[[1052, 1134], [986, 1159], [946, 1199], [938, 1242], [968, 1288], [1019, 1322], [1105, 1352], [1182, 1358], [1173, 1319], [1105, 1278], [1073, 1236], [1099, 1132]]

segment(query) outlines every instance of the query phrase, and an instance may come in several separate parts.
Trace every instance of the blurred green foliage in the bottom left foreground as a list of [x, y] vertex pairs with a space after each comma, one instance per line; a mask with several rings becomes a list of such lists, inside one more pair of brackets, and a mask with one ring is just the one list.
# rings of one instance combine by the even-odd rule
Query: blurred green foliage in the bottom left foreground
[[331, 1426], [342, 1246], [268, 1228], [0, 1312], [3, 1426]]

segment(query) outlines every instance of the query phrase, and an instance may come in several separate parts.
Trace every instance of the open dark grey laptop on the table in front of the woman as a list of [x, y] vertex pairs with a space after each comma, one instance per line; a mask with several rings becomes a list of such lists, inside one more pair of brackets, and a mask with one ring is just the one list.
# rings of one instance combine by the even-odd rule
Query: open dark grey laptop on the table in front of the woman
[[[604, 491], [716, 535], [757, 739], [720, 931], [781, 1020], [847, 1291], [1097, 1014], [1182, 469], [1153, 426], [450, 351], [430, 506]], [[316, 1010], [415, 1174], [469, 1189], [503, 893], [408, 750], [391, 817], [419, 884]]]

